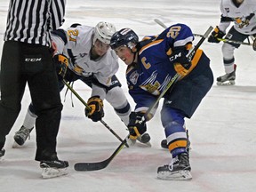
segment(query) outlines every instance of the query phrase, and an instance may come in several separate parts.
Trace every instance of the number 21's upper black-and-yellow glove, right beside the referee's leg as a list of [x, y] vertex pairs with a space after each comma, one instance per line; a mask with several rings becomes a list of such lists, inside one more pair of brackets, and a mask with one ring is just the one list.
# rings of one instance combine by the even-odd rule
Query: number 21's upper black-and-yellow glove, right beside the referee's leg
[[53, 56], [53, 61], [56, 66], [56, 72], [60, 78], [64, 78], [68, 68], [68, 58], [63, 54], [56, 54]]

